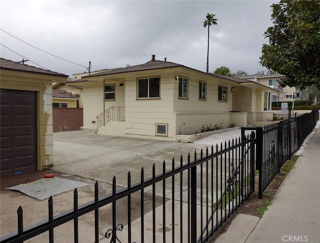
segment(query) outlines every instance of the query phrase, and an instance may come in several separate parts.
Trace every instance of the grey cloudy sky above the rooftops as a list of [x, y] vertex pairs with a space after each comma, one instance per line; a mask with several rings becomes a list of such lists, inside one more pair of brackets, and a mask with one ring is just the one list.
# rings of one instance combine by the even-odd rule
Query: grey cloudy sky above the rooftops
[[[209, 72], [227, 66], [254, 74], [264, 31], [272, 26], [270, 5], [278, 1], [15, 1], [1, 0], [0, 43], [52, 71], [71, 75], [156, 60], [206, 69], [207, 13], [210, 28]], [[0, 45], [0, 56], [22, 57]], [[31, 62], [26, 64], [36, 66]]]

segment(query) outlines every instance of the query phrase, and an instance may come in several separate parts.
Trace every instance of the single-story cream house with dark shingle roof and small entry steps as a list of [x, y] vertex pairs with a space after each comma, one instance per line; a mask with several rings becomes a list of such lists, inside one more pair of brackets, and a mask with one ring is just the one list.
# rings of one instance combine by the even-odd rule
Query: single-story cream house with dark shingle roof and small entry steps
[[272, 120], [270, 87], [155, 60], [82, 77], [83, 128], [175, 140], [205, 124], [227, 128]]

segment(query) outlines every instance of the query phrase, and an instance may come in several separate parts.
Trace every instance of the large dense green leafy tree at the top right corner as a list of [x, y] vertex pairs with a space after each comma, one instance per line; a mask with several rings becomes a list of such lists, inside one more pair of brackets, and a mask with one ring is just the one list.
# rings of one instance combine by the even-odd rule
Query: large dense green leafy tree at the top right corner
[[260, 63], [285, 75], [281, 86], [320, 88], [320, 1], [281, 0], [272, 6]]

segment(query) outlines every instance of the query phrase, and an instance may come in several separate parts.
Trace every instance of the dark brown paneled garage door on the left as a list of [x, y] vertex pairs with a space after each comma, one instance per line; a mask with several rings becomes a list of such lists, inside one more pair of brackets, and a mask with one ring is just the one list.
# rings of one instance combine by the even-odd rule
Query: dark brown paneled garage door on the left
[[35, 170], [36, 92], [0, 89], [0, 175]]

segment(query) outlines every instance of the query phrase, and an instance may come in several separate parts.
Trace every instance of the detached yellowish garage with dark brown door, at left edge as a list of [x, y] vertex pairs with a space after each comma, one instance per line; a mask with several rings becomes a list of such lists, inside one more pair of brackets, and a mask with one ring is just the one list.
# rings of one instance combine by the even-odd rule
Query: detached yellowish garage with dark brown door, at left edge
[[53, 164], [52, 80], [67, 75], [0, 59], [0, 174]]

